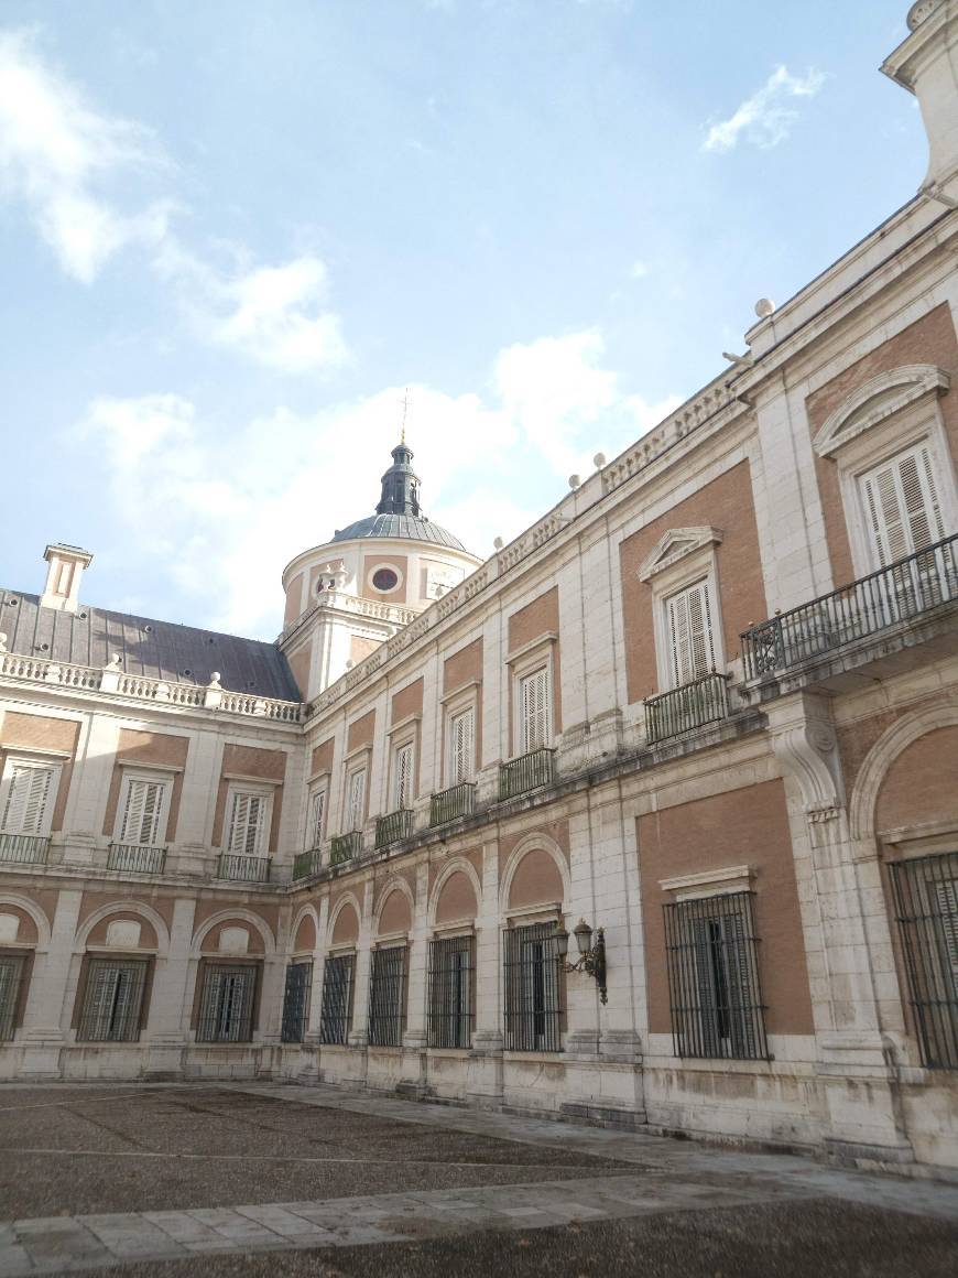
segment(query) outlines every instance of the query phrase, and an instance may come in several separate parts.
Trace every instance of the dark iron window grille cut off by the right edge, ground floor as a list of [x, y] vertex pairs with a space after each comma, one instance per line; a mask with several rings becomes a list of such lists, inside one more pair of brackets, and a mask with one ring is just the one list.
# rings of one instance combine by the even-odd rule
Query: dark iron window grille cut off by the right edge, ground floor
[[889, 870], [921, 1062], [958, 1070], [958, 852]]

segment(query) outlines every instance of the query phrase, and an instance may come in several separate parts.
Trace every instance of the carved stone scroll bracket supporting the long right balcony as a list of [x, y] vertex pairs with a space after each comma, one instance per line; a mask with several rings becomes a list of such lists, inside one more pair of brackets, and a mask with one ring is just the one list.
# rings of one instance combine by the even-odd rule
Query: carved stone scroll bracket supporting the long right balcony
[[798, 782], [809, 822], [835, 820], [844, 810], [844, 780], [832, 705], [825, 697], [796, 693], [768, 709], [772, 748]]

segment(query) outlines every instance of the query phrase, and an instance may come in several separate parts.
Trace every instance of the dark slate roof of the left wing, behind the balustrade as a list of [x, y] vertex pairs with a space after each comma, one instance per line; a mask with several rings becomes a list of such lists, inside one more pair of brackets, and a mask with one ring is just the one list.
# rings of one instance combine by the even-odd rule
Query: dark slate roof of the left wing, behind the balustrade
[[75, 613], [41, 608], [40, 597], [0, 588], [0, 631], [9, 652], [105, 666], [120, 654], [128, 675], [175, 684], [209, 682], [215, 670], [231, 693], [280, 700], [301, 700], [286, 658], [272, 643], [240, 639], [172, 621], [134, 617], [126, 612], [80, 603]]

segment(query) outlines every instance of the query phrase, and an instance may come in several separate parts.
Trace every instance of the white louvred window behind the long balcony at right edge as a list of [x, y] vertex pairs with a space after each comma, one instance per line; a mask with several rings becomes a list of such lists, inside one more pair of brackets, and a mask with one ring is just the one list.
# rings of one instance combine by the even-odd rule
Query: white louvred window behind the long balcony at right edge
[[863, 474], [860, 484], [876, 569], [944, 538], [945, 521], [927, 441]]

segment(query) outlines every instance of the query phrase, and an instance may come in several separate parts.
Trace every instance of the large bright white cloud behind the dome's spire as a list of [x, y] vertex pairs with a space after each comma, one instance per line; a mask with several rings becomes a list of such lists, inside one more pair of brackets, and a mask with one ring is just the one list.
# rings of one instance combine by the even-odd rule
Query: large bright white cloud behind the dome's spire
[[[598, 332], [510, 346], [490, 401], [411, 386], [428, 514], [489, 555], [494, 537], [508, 541], [543, 512], [521, 488], [510, 492], [507, 475], [544, 470], [558, 496], [572, 470], [591, 470], [597, 450], [614, 455], [676, 406], [623, 395], [603, 353]], [[231, 424], [224, 450], [222, 423], [216, 429], [181, 396], [97, 399], [78, 442], [97, 443], [130, 555], [155, 558], [203, 624], [271, 636], [282, 566], [372, 511], [401, 396], [388, 387], [314, 414], [280, 408]]]

